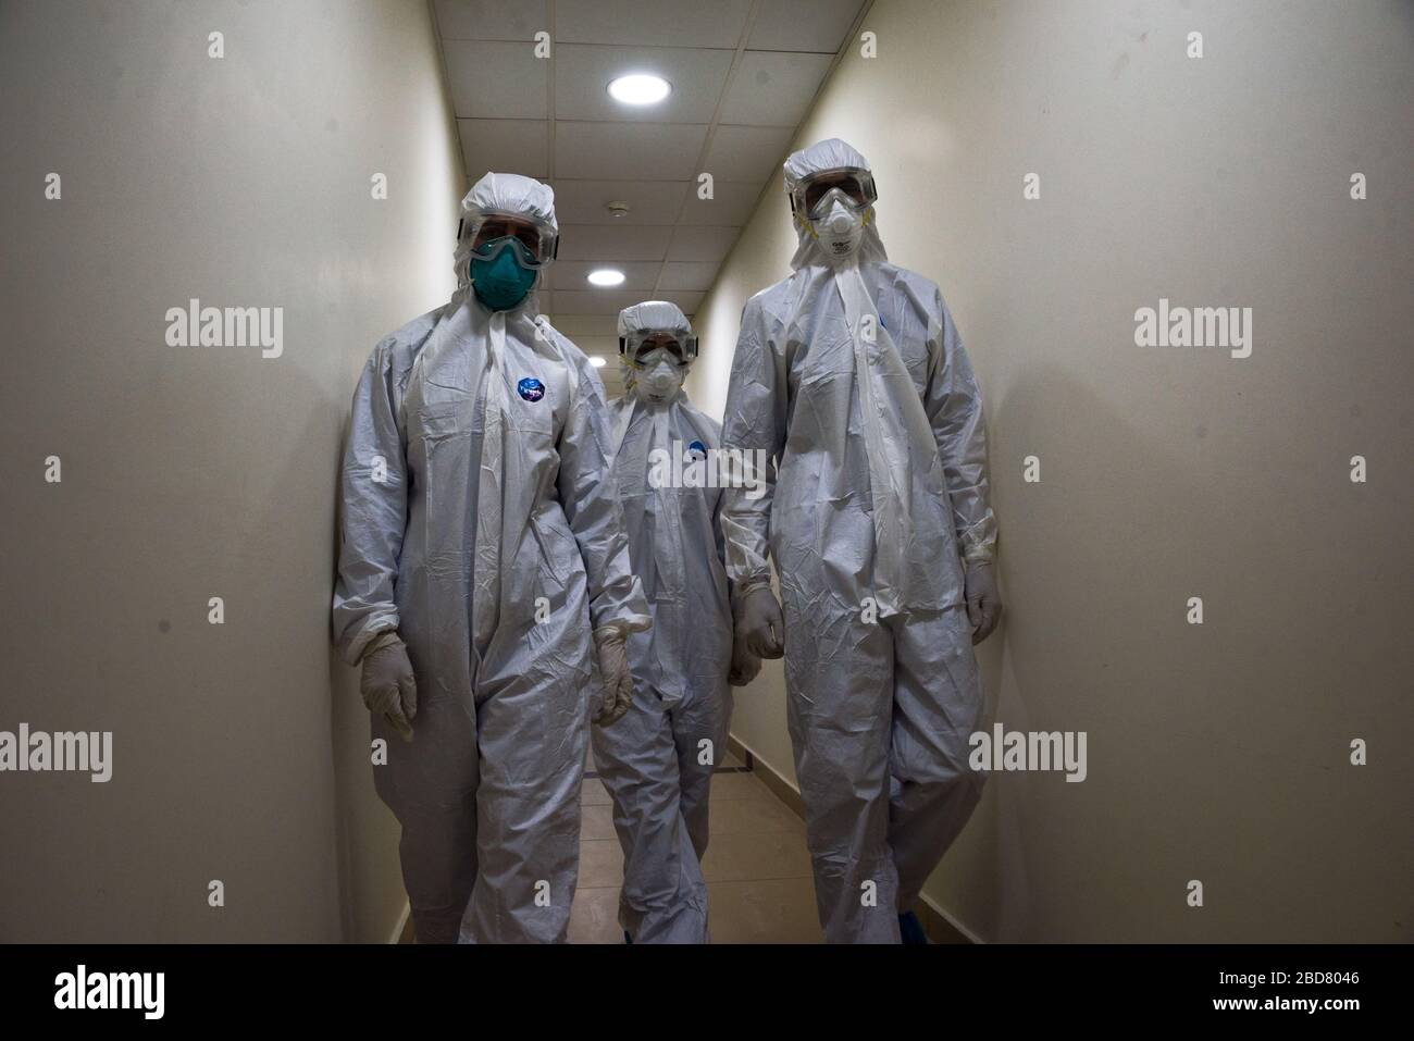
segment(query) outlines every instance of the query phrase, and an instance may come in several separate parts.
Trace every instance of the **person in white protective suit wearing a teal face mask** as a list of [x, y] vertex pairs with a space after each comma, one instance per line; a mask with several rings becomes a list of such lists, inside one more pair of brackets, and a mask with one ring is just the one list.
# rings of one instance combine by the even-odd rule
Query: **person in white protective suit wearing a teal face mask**
[[556, 942], [591, 709], [626, 711], [650, 617], [604, 386], [536, 314], [554, 195], [486, 174], [461, 205], [451, 303], [383, 339], [354, 396], [334, 631], [386, 743], [419, 942]]

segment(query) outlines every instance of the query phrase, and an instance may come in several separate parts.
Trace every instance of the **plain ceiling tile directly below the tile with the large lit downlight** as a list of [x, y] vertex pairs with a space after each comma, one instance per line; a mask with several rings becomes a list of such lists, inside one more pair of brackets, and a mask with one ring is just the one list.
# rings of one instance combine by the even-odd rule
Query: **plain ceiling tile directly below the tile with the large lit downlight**
[[701, 154], [701, 144], [706, 139], [707, 127], [693, 123], [568, 123], [557, 120], [554, 124], [554, 175], [605, 181], [633, 178], [690, 181], [696, 177], [697, 157]]

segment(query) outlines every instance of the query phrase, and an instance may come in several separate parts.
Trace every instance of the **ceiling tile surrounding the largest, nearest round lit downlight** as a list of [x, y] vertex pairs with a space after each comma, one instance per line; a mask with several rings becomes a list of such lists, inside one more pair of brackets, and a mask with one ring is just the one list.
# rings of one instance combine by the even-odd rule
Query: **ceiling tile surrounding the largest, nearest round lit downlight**
[[[731, 51], [691, 47], [585, 47], [563, 44], [554, 58], [557, 119], [635, 123], [710, 123], [731, 71]], [[673, 92], [658, 105], [622, 105], [609, 81], [631, 72], [662, 76]]]

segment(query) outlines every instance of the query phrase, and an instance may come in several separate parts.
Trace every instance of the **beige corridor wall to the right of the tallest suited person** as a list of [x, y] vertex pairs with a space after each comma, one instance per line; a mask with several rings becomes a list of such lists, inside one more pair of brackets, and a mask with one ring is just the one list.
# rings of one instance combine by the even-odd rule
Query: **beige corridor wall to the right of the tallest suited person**
[[[863, 30], [795, 147], [871, 158], [984, 389], [991, 714], [1087, 733], [1083, 784], [991, 778], [928, 894], [988, 941], [1411, 939], [1414, 7], [878, 0]], [[772, 190], [699, 311], [714, 414], [793, 245]], [[1253, 308], [1251, 356], [1137, 347], [1161, 298]], [[779, 668], [734, 730], [789, 772]]]

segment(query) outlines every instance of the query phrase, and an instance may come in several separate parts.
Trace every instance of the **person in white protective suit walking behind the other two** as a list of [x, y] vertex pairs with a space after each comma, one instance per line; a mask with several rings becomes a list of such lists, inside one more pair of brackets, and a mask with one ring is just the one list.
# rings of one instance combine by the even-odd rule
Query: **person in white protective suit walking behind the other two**
[[[624, 847], [619, 922], [632, 943], [706, 943], [707, 796], [731, 717], [732, 658], [720, 487], [704, 487], [721, 427], [682, 389], [697, 356], [683, 313], [662, 301], [619, 313], [626, 393], [614, 403], [614, 470], [633, 574], [653, 628], [629, 636], [633, 704], [594, 733], [594, 764]], [[720, 482], [718, 482], [720, 484]]]

